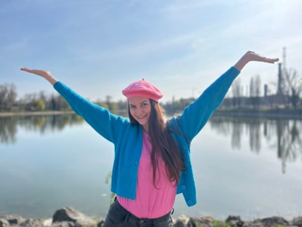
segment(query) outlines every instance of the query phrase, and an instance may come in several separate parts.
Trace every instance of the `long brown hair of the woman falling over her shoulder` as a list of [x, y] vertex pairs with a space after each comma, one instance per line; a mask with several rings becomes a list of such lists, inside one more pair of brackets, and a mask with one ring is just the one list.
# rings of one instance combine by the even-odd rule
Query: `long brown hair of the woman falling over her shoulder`
[[[185, 163], [182, 160], [180, 150], [169, 135], [166, 123], [164, 121], [163, 108], [153, 99], [149, 99], [151, 104], [151, 112], [149, 118], [149, 137], [152, 144], [151, 161], [153, 166], [153, 185], [155, 186], [156, 168], [158, 167], [158, 157], [161, 156], [166, 164], [166, 173], [169, 181], [176, 181], [177, 186], [180, 179], [180, 172], [185, 168]], [[128, 104], [128, 115], [132, 125], [139, 123], [132, 117]], [[175, 187], [174, 186], [174, 187]]]

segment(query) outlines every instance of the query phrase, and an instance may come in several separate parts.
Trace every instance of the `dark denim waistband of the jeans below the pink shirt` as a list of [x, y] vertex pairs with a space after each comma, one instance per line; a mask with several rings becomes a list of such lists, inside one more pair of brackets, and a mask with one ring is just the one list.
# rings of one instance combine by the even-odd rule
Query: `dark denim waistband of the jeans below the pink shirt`
[[[153, 223], [159, 223], [162, 222], [166, 219], [168, 219], [170, 217], [170, 213], [167, 213], [161, 217], [157, 217], [157, 218], [139, 218], [137, 216], [135, 216], [134, 214], [132, 214], [131, 212], [129, 212], [128, 210], [126, 210], [117, 200], [117, 197], [114, 198], [114, 205], [116, 206], [116, 208], [118, 209], [118, 211], [120, 211], [121, 214], [125, 215], [125, 221], [128, 220], [128, 218], [131, 218], [131, 220], [137, 222], [137, 223], [142, 223], [142, 222], [153, 222]], [[173, 208], [172, 208], [173, 209]], [[174, 209], [172, 211], [172, 213], [174, 212]], [[172, 214], [171, 213], [171, 214]]]

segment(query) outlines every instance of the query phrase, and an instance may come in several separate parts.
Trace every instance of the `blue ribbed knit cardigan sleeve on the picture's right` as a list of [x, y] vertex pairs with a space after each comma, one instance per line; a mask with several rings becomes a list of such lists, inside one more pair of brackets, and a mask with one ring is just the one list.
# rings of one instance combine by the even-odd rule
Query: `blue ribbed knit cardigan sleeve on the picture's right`
[[221, 105], [224, 96], [239, 74], [240, 71], [232, 66], [178, 116], [178, 124], [190, 142], [200, 132], [213, 112]]

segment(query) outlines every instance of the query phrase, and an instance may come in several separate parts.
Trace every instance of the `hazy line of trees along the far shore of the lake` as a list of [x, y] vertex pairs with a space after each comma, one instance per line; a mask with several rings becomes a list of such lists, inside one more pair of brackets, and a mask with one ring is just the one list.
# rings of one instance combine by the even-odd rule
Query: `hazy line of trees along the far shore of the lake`
[[[249, 85], [249, 97], [244, 97], [243, 87], [240, 78], [236, 79], [231, 87], [232, 98], [225, 98], [221, 106], [238, 108], [244, 104], [260, 107], [260, 102], [265, 99], [271, 108], [276, 101], [282, 101], [285, 108], [290, 106], [294, 109], [302, 105], [299, 97], [302, 91], [302, 77], [294, 69], [286, 70], [281, 81], [282, 93], [277, 97], [272, 93], [271, 87], [277, 88], [277, 83], [271, 82], [272, 86], [267, 87], [267, 96], [261, 96], [261, 79], [259, 75], [251, 78]], [[161, 103], [161, 106], [169, 114], [182, 112], [183, 109], [193, 102], [195, 98], [181, 98], [179, 100]], [[103, 106], [112, 112], [127, 111], [127, 101], [112, 101], [112, 96], [107, 95], [105, 100], [98, 99], [94, 102]], [[24, 97], [17, 100], [17, 91], [15, 84], [0, 84], [0, 112], [22, 112], [22, 111], [70, 111], [72, 110], [66, 100], [60, 94], [46, 95], [44, 91], [38, 93], [25, 94]]]

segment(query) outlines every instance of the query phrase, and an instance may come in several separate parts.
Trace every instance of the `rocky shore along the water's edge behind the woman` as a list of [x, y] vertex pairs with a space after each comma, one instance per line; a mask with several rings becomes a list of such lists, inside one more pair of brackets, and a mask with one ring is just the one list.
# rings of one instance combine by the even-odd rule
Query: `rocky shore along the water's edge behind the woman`
[[[186, 217], [180, 215], [173, 219], [175, 227], [302, 227], [302, 216], [286, 220], [283, 217], [273, 216], [253, 221], [241, 220], [240, 216], [229, 216], [225, 220], [216, 220], [212, 217]], [[90, 217], [70, 207], [63, 207], [53, 214], [52, 218], [34, 219], [23, 218], [17, 214], [0, 215], [0, 227], [102, 227], [104, 218]]]

